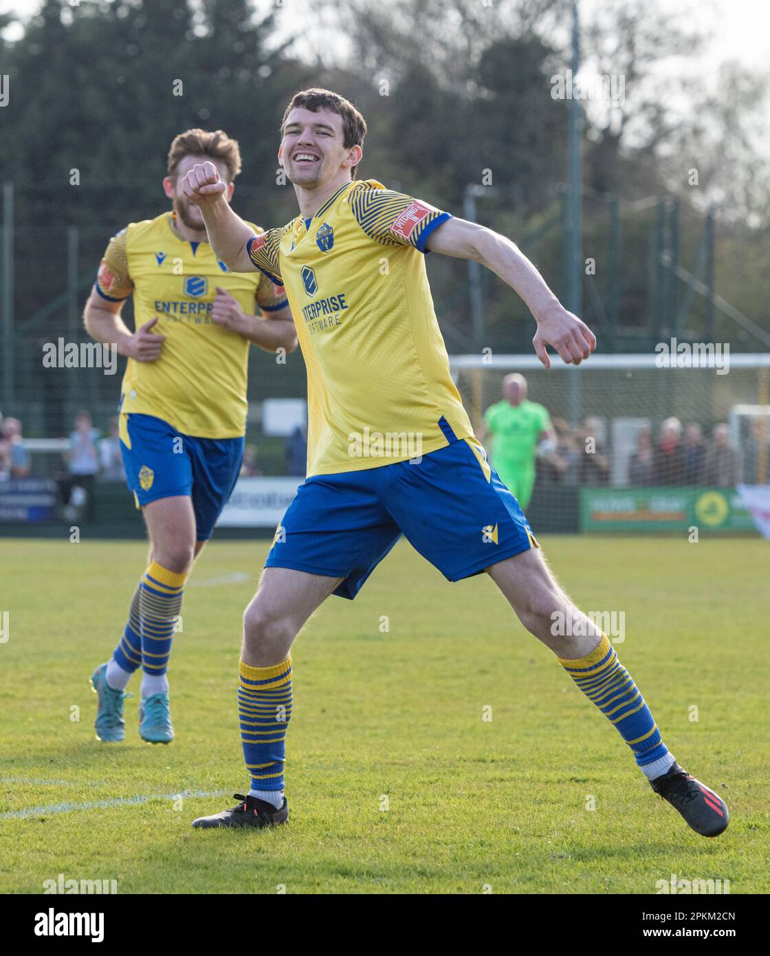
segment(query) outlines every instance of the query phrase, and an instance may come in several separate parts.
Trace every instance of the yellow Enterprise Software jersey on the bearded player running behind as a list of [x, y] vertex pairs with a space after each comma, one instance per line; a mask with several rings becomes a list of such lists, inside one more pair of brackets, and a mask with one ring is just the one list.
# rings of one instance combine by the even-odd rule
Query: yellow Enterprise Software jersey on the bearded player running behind
[[229, 272], [207, 242], [185, 239], [171, 212], [131, 223], [110, 240], [96, 292], [112, 301], [133, 293], [136, 327], [157, 316], [153, 332], [165, 337], [157, 361], [128, 360], [122, 413], [154, 415], [196, 438], [245, 433], [250, 343], [211, 321], [217, 286], [250, 315], [255, 303], [264, 313], [287, 305], [266, 276]]

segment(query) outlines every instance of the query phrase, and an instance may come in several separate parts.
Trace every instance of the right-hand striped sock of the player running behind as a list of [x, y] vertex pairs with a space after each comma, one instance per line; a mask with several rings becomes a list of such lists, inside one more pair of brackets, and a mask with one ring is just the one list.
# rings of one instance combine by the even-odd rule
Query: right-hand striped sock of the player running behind
[[[139, 629], [141, 632], [141, 669], [149, 681], [142, 680], [142, 693], [155, 693], [164, 678], [171, 655], [171, 641], [182, 610], [182, 588], [187, 574], [168, 571], [151, 561], [139, 584]], [[162, 684], [165, 686], [165, 680]]]

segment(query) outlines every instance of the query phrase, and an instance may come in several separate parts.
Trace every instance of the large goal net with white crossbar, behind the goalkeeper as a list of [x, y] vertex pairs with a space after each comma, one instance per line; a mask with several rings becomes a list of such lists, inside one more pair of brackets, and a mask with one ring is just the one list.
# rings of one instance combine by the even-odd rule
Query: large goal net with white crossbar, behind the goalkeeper
[[490, 426], [490, 407], [510, 403], [506, 387], [521, 399], [521, 380], [506, 386], [508, 377], [523, 377], [526, 401], [545, 406], [552, 429], [534, 449], [525, 508], [541, 531], [674, 530], [708, 502], [715, 530], [749, 529], [735, 489], [770, 482], [770, 355], [728, 353], [683, 367], [675, 359], [592, 356], [574, 367], [552, 357], [549, 370], [534, 355], [450, 363], [493, 466], [517, 440], [515, 427]]

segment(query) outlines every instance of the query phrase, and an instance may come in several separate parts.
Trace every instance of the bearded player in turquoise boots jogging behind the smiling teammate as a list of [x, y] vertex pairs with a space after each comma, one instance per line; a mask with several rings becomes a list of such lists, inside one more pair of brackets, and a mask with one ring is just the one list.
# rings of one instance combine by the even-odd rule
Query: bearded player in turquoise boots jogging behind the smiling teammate
[[[139, 735], [163, 744], [174, 736], [171, 642], [184, 581], [241, 469], [249, 344], [268, 352], [296, 346], [283, 289], [260, 273], [230, 272], [209, 246], [201, 210], [181, 187], [200, 163], [216, 169], [229, 203], [241, 170], [238, 142], [222, 130], [182, 133], [171, 143], [163, 180], [171, 211], [113, 236], [85, 308], [89, 333], [128, 359], [120, 450], [150, 538], [123, 635], [91, 678], [96, 735], [108, 742], [124, 738], [125, 688], [139, 666]], [[129, 295], [135, 332], [120, 317]]]

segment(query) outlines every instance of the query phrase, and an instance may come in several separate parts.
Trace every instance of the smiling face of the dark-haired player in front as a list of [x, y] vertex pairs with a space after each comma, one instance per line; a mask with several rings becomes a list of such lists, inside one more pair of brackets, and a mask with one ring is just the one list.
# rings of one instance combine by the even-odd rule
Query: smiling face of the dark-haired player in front
[[291, 183], [317, 189], [361, 161], [360, 146], [345, 146], [342, 117], [331, 110], [298, 106], [284, 123], [278, 162]]

